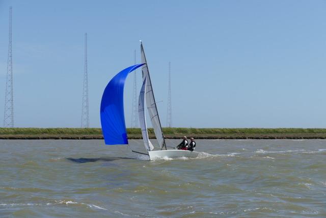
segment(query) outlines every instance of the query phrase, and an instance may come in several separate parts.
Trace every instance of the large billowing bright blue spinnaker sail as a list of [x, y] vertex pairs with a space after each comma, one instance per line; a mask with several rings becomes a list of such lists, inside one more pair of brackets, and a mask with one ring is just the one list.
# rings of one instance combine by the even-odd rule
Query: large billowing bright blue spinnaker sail
[[129, 66], [107, 84], [101, 100], [101, 125], [105, 144], [128, 144], [123, 109], [123, 88], [129, 72], [144, 64]]

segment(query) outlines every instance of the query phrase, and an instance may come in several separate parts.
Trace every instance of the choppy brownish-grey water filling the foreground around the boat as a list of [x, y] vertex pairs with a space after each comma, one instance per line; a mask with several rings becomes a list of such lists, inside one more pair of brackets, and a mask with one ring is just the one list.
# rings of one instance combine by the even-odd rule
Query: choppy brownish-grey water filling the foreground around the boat
[[102, 140], [0, 140], [0, 216], [326, 217], [326, 140], [197, 144], [148, 161]]

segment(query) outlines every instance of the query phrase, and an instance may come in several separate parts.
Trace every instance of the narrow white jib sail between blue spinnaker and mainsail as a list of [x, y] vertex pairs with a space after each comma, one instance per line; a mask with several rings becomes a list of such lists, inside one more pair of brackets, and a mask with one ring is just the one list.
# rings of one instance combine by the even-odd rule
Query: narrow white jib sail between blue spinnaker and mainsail
[[141, 129], [142, 129], [142, 135], [143, 135], [145, 148], [147, 151], [152, 151], [154, 149], [154, 147], [148, 138], [148, 132], [147, 132], [147, 126], [146, 126], [146, 116], [145, 116], [146, 82], [147, 82], [147, 77], [145, 77], [145, 79], [144, 79], [143, 86], [142, 86], [141, 92], [139, 94], [138, 117], [139, 117], [139, 123], [141, 125]]

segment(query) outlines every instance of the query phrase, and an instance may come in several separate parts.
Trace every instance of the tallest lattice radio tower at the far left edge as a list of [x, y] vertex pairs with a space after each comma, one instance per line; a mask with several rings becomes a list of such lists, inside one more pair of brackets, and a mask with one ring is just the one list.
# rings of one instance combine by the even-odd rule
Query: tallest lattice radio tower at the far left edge
[[13, 82], [12, 82], [12, 45], [11, 45], [11, 23], [12, 7], [9, 8], [9, 47], [8, 47], [8, 65], [7, 65], [7, 82], [5, 96], [5, 113], [4, 127], [14, 127], [14, 101], [13, 101]]

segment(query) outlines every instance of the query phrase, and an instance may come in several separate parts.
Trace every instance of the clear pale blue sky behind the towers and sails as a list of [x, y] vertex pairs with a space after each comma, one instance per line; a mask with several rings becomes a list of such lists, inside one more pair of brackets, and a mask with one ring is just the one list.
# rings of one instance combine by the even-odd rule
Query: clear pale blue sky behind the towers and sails
[[171, 61], [174, 127], [326, 128], [326, 1], [0, 0], [0, 126], [9, 6], [15, 127], [80, 126], [87, 32], [91, 127], [141, 39], [163, 126]]

